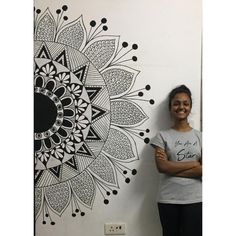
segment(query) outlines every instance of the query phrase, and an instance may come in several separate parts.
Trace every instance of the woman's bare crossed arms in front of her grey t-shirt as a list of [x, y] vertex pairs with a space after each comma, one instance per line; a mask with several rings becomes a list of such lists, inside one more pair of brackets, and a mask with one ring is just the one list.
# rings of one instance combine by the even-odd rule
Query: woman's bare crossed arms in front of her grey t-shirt
[[202, 176], [202, 163], [199, 161], [169, 161], [165, 150], [156, 147], [155, 161], [159, 172], [177, 177], [199, 178]]

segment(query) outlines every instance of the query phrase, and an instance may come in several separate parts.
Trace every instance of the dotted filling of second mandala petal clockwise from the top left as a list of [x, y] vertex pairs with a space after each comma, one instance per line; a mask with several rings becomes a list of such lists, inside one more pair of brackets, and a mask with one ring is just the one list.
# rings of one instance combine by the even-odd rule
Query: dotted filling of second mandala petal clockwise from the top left
[[80, 24], [77, 22], [74, 25], [68, 26], [59, 34], [57, 41], [65, 45], [79, 49], [83, 43], [84, 31]]

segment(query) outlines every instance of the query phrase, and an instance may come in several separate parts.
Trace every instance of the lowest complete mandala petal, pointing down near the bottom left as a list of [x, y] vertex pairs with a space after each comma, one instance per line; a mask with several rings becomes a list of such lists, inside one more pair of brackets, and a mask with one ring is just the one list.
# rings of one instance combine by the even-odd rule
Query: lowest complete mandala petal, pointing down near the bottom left
[[68, 206], [71, 199], [71, 190], [67, 182], [45, 187], [45, 199], [49, 207], [61, 215]]

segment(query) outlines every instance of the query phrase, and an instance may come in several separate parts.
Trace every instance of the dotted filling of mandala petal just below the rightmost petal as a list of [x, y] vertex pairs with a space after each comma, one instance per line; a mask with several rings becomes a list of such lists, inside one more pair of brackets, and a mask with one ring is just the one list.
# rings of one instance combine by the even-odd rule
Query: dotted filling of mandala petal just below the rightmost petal
[[131, 146], [132, 144], [125, 134], [111, 129], [103, 150], [114, 158], [127, 160], [134, 157]]

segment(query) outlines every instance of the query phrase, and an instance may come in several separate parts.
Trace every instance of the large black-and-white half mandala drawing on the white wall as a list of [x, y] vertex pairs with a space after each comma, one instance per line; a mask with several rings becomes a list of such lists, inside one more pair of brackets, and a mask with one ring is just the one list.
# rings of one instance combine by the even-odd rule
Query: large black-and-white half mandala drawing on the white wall
[[53, 214], [84, 216], [96, 194], [108, 204], [119, 179], [130, 182], [135, 139], [149, 142], [137, 101], [154, 101], [141, 98], [150, 85], [132, 92], [139, 71], [125, 63], [137, 57], [125, 57], [138, 46], [102, 35], [106, 18], [87, 31], [82, 15], [67, 23], [66, 5], [34, 10], [35, 219], [54, 225]]

